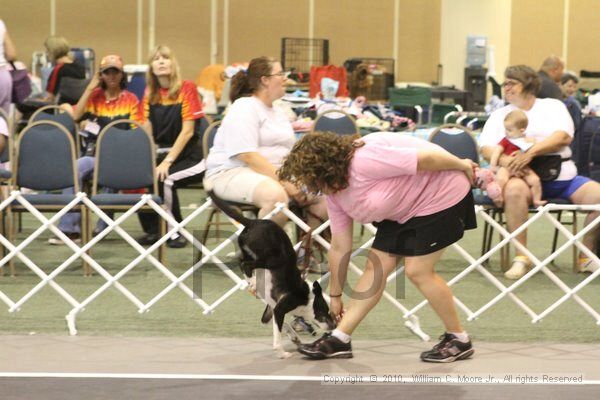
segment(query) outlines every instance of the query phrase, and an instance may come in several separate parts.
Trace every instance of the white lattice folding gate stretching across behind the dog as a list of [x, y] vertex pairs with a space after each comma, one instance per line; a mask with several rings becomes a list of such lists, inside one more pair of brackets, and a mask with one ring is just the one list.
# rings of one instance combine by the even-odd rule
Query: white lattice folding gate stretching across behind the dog
[[[16, 301], [11, 299], [8, 295], [3, 293], [0, 290], [0, 300], [6, 303], [9, 307], [10, 312], [18, 311], [28, 300], [30, 300], [36, 293], [38, 293], [44, 286], [49, 285], [53, 288], [58, 295], [65, 299], [73, 308], [66, 316], [69, 332], [72, 335], [77, 334], [76, 329], [76, 318], [77, 315], [85, 309], [90, 303], [98, 298], [103, 292], [109, 289], [111, 286], [114, 286], [119, 292], [123, 294], [129, 301], [131, 301], [135, 307], [137, 307], [140, 313], [147, 312], [154, 304], [160, 301], [166, 294], [178, 288], [183, 291], [186, 296], [188, 296], [194, 303], [200, 306], [203, 310], [204, 314], [208, 314], [213, 312], [222, 302], [227, 300], [234, 293], [244, 290], [247, 288], [248, 284], [244, 279], [241, 279], [236, 273], [231, 271], [229, 267], [219, 259], [219, 254], [225, 249], [232, 241], [235, 240], [236, 236], [242, 231], [243, 227], [239, 224], [235, 223], [237, 230], [230, 237], [223, 240], [223, 242], [219, 243], [214, 249], [210, 250], [204, 245], [202, 245], [199, 241], [197, 241], [194, 236], [186, 229], [186, 226], [193, 221], [195, 218], [198, 218], [202, 213], [209, 210], [211, 207], [211, 201], [207, 200], [201, 207], [193, 210], [181, 223], [177, 223], [160, 205], [156, 204], [152, 201], [150, 195], [142, 196], [142, 199], [139, 203], [132, 206], [127, 212], [120, 215], [117, 219], [112, 220], [108, 217], [101, 209], [99, 209], [95, 204], [93, 204], [90, 199], [87, 197], [85, 193], [78, 193], [75, 199], [65, 206], [62, 210], [54, 214], [51, 218], [46, 218], [42, 213], [40, 213], [34, 206], [28, 203], [18, 191], [14, 191], [10, 194], [8, 198], [6, 198], [2, 203], [0, 203], [0, 211], [4, 211], [11, 203], [17, 201], [21, 205], [27, 208], [27, 210], [41, 222], [41, 226], [36, 229], [33, 233], [31, 233], [25, 240], [20, 242], [17, 246], [13, 245], [8, 241], [8, 239], [2, 235], [0, 235], [0, 243], [8, 250], [8, 254], [4, 256], [0, 260], [0, 268], [6, 268], [8, 262], [12, 258], [20, 259], [29, 269], [31, 269], [36, 275], [40, 277], [40, 282], [33, 289], [31, 289], [28, 293], [26, 293], [20, 299]], [[94, 214], [96, 214], [99, 218], [103, 219], [107, 224], [108, 228], [102, 231], [99, 235], [94, 237], [88, 243], [83, 246], [78, 246], [72, 240], [70, 240], [65, 234], [63, 234], [56, 226], [60, 217], [70, 211], [72, 208], [77, 205], [84, 204], [88, 207]], [[123, 228], [120, 227], [120, 224], [125, 221], [128, 217], [135, 214], [142, 206], [149, 205], [152, 207], [161, 218], [165, 219], [169, 224], [169, 231], [156, 243], [148, 248], [144, 248], [139, 243], [137, 243]], [[596, 257], [596, 255], [582, 245], [580, 239], [583, 235], [591, 229], [594, 229], [598, 223], [600, 223], [600, 217], [593, 220], [590, 224], [585, 226], [581, 231], [579, 231], [576, 235], [573, 235], [566, 229], [555, 217], [551, 214], [551, 211], [558, 210], [577, 210], [577, 211], [600, 211], [600, 205], [594, 206], [575, 206], [575, 205], [554, 205], [547, 204], [544, 207], [538, 209], [538, 212], [533, 215], [529, 220], [521, 226], [518, 230], [509, 234], [504, 227], [502, 227], [498, 222], [496, 222], [493, 218], [491, 218], [481, 207], [476, 207], [477, 214], [483, 218], [485, 221], [491, 224], [493, 229], [499, 232], [503, 239], [494, 247], [492, 247], [487, 253], [482, 256], [472, 256], [467, 251], [465, 251], [461, 246], [460, 242], [455, 243], [452, 246], [454, 249], [465, 259], [467, 267], [462, 270], [459, 274], [453, 277], [448, 283], [449, 285], [453, 285], [459, 282], [462, 279], [465, 279], [471, 272], [477, 270], [484, 278], [486, 278], [493, 286], [498, 290], [498, 295], [490, 300], [488, 303], [483, 305], [477, 310], [471, 310], [466, 304], [464, 304], [460, 299], [455, 297], [456, 305], [459, 309], [465, 312], [467, 315], [467, 319], [469, 321], [473, 321], [477, 317], [479, 317], [482, 313], [490, 310], [495, 304], [501, 301], [503, 298], [508, 297], [512, 300], [519, 308], [521, 308], [525, 313], [527, 313], [533, 323], [540, 321], [542, 318], [549, 315], [551, 312], [556, 310], [561, 304], [563, 304], [568, 299], [572, 298], [577, 304], [579, 304], [592, 318], [595, 319], [596, 324], [600, 325], [600, 314], [588, 303], [582, 299], [578, 292], [581, 291], [586, 285], [588, 285], [592, 280], [594, 280], [599, 274], [600, 270], [595, 271], [593, 274], [587, 276], [583, 279], [579, 284], [575, 287], [569, 287], [565, 284], [559, 277], [556, 276], [549, 268], [548, 264], [556, 259], [562, 252], [567, 249], [570, 249], [571, 246], [577, 246], [582, 252], [584, 252], [589, 258], [591, 258], [594, 262], [600, 264], [600, 259]], [[283, 212], [288, 216], [290, 221], [296, 225], [298, 225], [303, 231], [308, 232], [310, 228], [294, 213], [292, 213], [284, 204], [279, 204], [266, 218], [270, 218], [272, 215]], [[532, 224], [536, 223], [536, 221], [541, 219], [547, 219], [550, 223], [555, 226], [566, 238], [567, 241], [556, 249], [556, 251], [550, 254], [548, 257], [540, 260], [533, 253], [531, 253], [527, 248], [523, 247], [519, 244], [514, 238], [523, 230], [527, 229]], [[326, 249], [329, 249], [330, 244], [325, 240], [321, 233], [329, 226], [329, 221], [325, 222], [323, 225], [314, 229], [312, 231], [313, 240], [316, 240], [318, 243], [323, 245]], [[371, 233], [375, 233], [376, 229], [368, 224], [366, 228]], [[73, 255], [71, 255], [67, 260], [65, 260], [60, 265], [56, 266], [56, 268], [47, 274], [42, 269], [40, 269], [31, 259], [29, 259], [26, 255], [23, 254], [23, 249], [26, 248], [33, 240], [35, 240], [39, 235], [41, 235], [45, 230], [50, 230], [60, 239], [62, 239], [66, 245], [73, 251]], [[111, 275], [102, 267], [100, 262], [102, 260], [96, 260], [92, 258], [90, 255], [86, 253], [87, 250], [91, 249], [94, 245], [96, 245], [103, 237], [108, 235], [110, 232], [115, 231], [118, 235], [120, 235], [131, 247], [133, 247], [139, 255], [131, 261], [129, 264], [125, 265], [118, 273], [115, 275]], [[158, 249], [158, 247], [164, 243], [167, 238], [169, 238], [174, 232], [179, 231], [181, 235], [183, 235], [193, 246], [195, 246], [202, 254], [201, 259], [191, 266], [187, 271], [185, 271], [180, 276], [175, 276], [167, 266], [163, 265], [158, 259], [156, 259], [152, 253]], [[362, 274], [362, 270], [353, 262], [357, 256], [359, 256], [365, 250], [371, 246], [373, 242], [373, 237], [367, 239], [359, 248], [357, 248], [351, 256], [350, 259], [350, 270], [354, 273], [360, 275]], [[488, 260], [494, 253], [500, 251], [505, 245], [511, 242], [514, 246], [519, 248], [524, 254], [526, 254], [530, 260], [534, 263], [534, 267], [529, 271], [525, 276], [523, 276], [518, 281], [513, 282], [509, 286], [506, 286], [499, 279], [497, 279], [492, 273], [490, 273], [482, 264]], [[298, 242], [295, 244], [295, 249], [298, 249], [301, 246], [301, 243]], [[74, 261], [82, 258], [86, 261], [91, 268], [93, 268], [100, 276], [102, 276], [106, 282], [101, 285], [96, 291], [94, 291], [87, 298], [78, 301], [71, 294], [69, 294], [64, 288], [58, 285], [54, 279], [64, 271], [69, 265], [71, 265]], [[123, 284], [119, 282], [119, 279], [122, 278], [127, 272], [131, 271], [135, 268], [140, 262], [143, 260], [148, 260], [158, 271], [160, 271], [167, 279], [169, 279], [170, 284], [165, 287], [162, 291], [157, 293], [150, 301], [147, 303], [143, 303], [140, 301], [134, 294], [132, 294]], [[202, 298], [199, 298], [196, 293], [189, 288], [184, 281], [190, 277], [194, 271], [198, 268], [201, 268], [208, 261], [211, 261], [213, 264], [217, 265], [223, 274], [231, 279], [233, 285], [232, 287], [223, 293], [217, 300], [215, 300], [212, 304], [208, 304]], [[388, 282], [396, 279], [396, 276], [402, 272], [403, 267], [398, 268], [390, 277], [388, 278]], [[549, 306], [547, 309], [543, 310], [540, 313], [536, 313], [533, 311], [524, 301], [519, 299], [514, 293], [515, 289], [519, 286], [526, 283], [534, 274], [542, 272], [544, 273], [560, 290], [564, 292], [564, 295], [558, 299], [554, 304]], [[321, 281], [327, 280], [329, 278], [328, 275], [324, 275], [321, 277]], [[2, 278], [6, 279], [6, 278]], [[417, 312], [421, 310], [426, 304], [427, 301], [423, 301], [412, 309], [408, 309], [405, 307], [396, 297], [390, 294], [387, 291], [384, 291], [383, 296], [386, 300], [392, 303], [396, 308], [398, 308], [402, 312], [402, 316], [405, 319], [405, 325], [411, 329], [416, 335], [420, 336], [423, 340], [428, 340], [429, 336], [424, 333], [419, 327], [419, 320], [417, 317]]]

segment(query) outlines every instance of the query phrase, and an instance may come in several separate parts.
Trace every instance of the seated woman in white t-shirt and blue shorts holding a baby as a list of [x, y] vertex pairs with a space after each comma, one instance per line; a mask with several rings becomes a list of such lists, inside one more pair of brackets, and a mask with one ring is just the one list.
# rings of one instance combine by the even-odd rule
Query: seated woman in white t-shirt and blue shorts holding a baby
[[[504, 117], [513, 110], [521, 110], [527, 115], [529, 125], [525, 134], [536, 141], [526, 152], [503, 155], [500, 159], [500, 166], [508, 168], [513, 175], [504, 188], [504, 212], [508, 230], [512, 232], [527, 221], [532, 199], [527, 183], [521, 179], [522, 171], [534, 157], [540, 155], [556, 154], [563, 159], [558, 177], [542, 182], [544, 199], [562, 198], [575, 204], [600, 203], [600, 184], [577, 175], [577, 167], [570, 160], [569, 144], [573, 140], [573, 120], [565, 105], [555, 99], [536, 98], [540, 81], [530, 67], [508, 67], [504, 76], [504, 98], [509, 104], [494, 111], [486, 122], [480, 136], [481, 152], [486, 159], [490, 159], [494, 145], [504, 134]], [[598, 213], [590, 213], [586, 224], [597, 216]], [[592, 251], [596, 244], [596, 231], [593, 229], [582, 240]], [[517, 240], [527, 246], [527, 232], [518, 235]], [[509, 279], [519, 279], [531, 268], [530, 260], [519, 249], [516, 253], [511, 268], [505, 273]], [[580, 255], [580, 271], [593, 272], [599, 267], [583, 253]]]

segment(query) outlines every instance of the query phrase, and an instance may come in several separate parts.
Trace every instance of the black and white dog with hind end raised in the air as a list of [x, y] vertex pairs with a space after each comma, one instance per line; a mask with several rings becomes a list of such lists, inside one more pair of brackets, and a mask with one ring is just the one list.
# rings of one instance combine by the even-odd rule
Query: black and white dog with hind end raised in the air
[[273, 349], [278, 356], [291, 356], [283, 350], [281, 342], [283, 321], [288, 313], [314, 322], [321, 329], [335, 328], [321, 285], [315, 281], [311, 290], [302, 279], [296, 252], [285, 231], [271, 220], [244, 217], [213, 191], [208, 195], [225, 214], [244, 225], [238, 237], [242, 272], [257, 297], [267, 304], [261, 321], [266, 324], [273, 319]]

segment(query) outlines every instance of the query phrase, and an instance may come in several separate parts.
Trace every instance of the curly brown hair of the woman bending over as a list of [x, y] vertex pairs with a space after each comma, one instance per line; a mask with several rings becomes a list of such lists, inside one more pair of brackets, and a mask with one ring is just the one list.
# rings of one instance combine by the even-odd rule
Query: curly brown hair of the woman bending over
[[348, 187], [348, 168], [359, 135], [314, 132], [304, 135], [283, 160], [277, 171], [280, 180], [306, 187], [316, 193], [323, 189], [338, 192]]

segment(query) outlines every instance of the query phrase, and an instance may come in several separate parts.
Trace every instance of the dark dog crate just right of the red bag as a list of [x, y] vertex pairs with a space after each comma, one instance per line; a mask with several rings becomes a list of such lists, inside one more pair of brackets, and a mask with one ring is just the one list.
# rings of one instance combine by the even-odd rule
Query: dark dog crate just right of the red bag
[[366, 58], [356, 57], [344, 61], [344, 68], [348, 71], [348, 76], [360, 64], [365, 64], [369, 68], [373, 83], [369, 88], [367, 98], [369, 100], [387, 100], [389, 98], [388, 88], [394, 86], [395, 64], [393, 58]]

